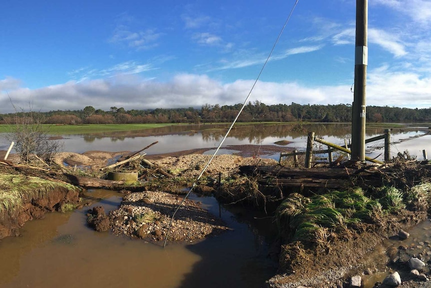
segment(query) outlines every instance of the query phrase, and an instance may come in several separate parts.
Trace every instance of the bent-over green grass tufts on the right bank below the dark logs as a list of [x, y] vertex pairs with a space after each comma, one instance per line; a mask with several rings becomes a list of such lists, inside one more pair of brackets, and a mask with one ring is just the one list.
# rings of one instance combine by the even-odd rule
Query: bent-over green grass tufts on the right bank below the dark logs
[[405, 202], [429, 199], [431, 184], [415, 186], [405, 194], [381, 187], [366, 196], [359, 187], [305, 197], [290, 194], [275, 211], [280, 234], [292, 241], [325, 243], [331, 237], [351, 235], [360, 223], [377, 224], [388, 213], [405, 208]]

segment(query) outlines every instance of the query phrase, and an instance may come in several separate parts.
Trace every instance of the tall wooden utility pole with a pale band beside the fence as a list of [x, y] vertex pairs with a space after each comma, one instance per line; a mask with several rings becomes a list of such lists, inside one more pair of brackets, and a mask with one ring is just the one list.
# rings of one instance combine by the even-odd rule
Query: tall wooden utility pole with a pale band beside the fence
[[354, 50], [354, 94], [351, 125], [351, 159], [365, 160], [365, 88], [368, 0], [356, 0], [356, 41]]

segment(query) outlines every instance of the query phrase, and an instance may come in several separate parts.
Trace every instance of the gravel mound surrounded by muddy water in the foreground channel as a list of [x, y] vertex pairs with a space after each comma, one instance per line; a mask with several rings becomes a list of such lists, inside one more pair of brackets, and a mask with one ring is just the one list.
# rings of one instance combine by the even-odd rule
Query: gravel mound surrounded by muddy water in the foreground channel
[[[109, 213], [112, 231], [145, 240], [164, 240], [170, 218], [181, 200], [182, 197], [159, 191], [128, 194], [120, 207]], [[227, 229], [198, 202], [186, 199], [175, 214], [168, 240], [192, 242]]]

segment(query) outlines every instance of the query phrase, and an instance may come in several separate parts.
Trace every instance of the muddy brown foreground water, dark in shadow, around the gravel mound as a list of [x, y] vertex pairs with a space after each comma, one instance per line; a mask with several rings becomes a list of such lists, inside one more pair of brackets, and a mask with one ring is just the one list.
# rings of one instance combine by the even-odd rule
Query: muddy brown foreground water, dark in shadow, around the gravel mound
[[[21, 237], [0, 241], [0, 287], [260, 287], [275, 273], [267, 258], [273, 231], [260, 229], [210, 197], [203, 207], [219, 215], [232, 231], [194, 244], [147, 243], [98, 233], [86, 226], [86, 210], [114, 209], [121, 194], [88, 192], [99, 202], [68, 213], [47, 213], [21, 228]], [[195, 196], [194, 196], [195, 197]], [[239, 216], [238, 216], [239, 215]], [[247, 215], [248, 218], [251, 215]], [[241, 220], [242, 218], [242, 220]], [[254, 220], [267, 227], [267, 219]], [[262, 223], [259, 221], [266, 221]]]

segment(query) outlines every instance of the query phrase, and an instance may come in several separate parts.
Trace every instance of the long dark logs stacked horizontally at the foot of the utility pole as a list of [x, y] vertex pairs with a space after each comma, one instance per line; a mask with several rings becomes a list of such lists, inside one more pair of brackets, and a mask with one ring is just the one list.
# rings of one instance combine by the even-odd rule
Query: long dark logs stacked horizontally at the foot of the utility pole
[[431, 165], [428, 161], [404, 160], [400, 157], [385, 166], [348, 165], [354, 163], [357, 161], [346, 162], [336, 168], [242, 166], [239, 171], [241, 174], [256, 177], [261, 187], [286, 188], [287, 191], [284, 190], [286, 192], [290, 187], [299, 187], [301, 191], [304, 189], [315, 191], [315, 188], [380, 187], [382, 184], [393, 183], [396, 183], [397, 187], [408, 189], [411, 185], [420, 184], [423, 179], [431, 177]]

